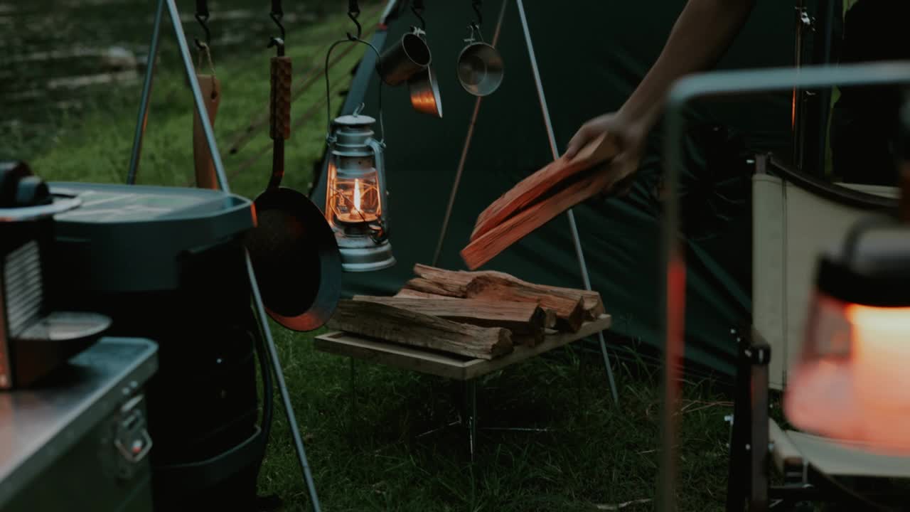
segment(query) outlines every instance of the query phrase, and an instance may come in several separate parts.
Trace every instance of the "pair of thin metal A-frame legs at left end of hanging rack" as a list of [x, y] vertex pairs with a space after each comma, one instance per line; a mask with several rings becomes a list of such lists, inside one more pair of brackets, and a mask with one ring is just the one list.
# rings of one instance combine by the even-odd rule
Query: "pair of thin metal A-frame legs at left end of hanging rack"
[[[133, 161], [130, 164], [130, 177], [133, 180], [136, 178], [136, 166], [138, 166], [139, 150], [142, 148], [142, 138], [145, 135], [148, 100], [149, 97], [151, 97], [152, 78], [154, 77], [154, 61], [155, 57], [157, 56], [158, 36], [161, 27], [161, 17], [163, 15], [165, 5], [167, 5], [167, 12], [168, 15], [170, 15], [171, 22], [174, 27], [174, 34], [177, 36], [177, 46], [180, 50], [180, 56], [182, 57], [184, 70], [187, 72], [187, 81], [189, 82], [190, 88], [193, 92], [193, 102], [196, 106], [199, 119], [202, 121], [202, 128], [205, 131], [208, 150], [211, 153], [212, 163], [217, 174], [218, 187], [225, 192], [229, 192], [230, 188], [227, 184], [227, 175], [225, 174], [224, 164], [222, 163], [221, 155], [217, 150], [215, 132], [212, 129], [211, 122], [208, 119], [205, 102], [202, 97], [202, 91], [199, 88], [199, 84], [196, 80], [193, 61], [189, 56], [187, 36], [183, 32], [183, 26], [180, 22], [180, 14], [177, 11], [177, 5], [175, 4], [174, 0], [158, 0], [155, 27], [153, 29], [152, 36], [152, 47], [149, 48], [150, 62], [146, 70], [146, 82], [143, 85], [143, 97], [141, 102], [142, 105], [139, 108], [139, 118], [137, 119], [138, 126], [136, 126], [136, 138], [133, 144]], [[313, 483], [313, 476], [309, 470], [309, 465], [307, 463], [307, 454], [303, 447], [303, 440], [298, 429], [297, 418], [294, 415], [294, 409], [290, 402], [288, 386], [285, 384], [284, 374], [281, 370], [281, 363], [278, 359], [278, 351], [275, 348], [275, 341], [272, 339], [272, 333], [268, 327], [268, 316], [266, 315], [265, 307], [262, 304], [262, 297], [259, 295], [259, 287], [256, 280], [256, 274], [253, 271], [253, 264], [252, 261], [249, 260], [248, 253], [246, 254], [246, 261], [250, 288], [253, 292], [253, 300], [256, 304], [256, 313], [259, 318], [259, 323], [262, 327], [262, 331], [266, 337], [269, 363], [272, 365], [272, 370], [275, 372], [275, 377], [278, 381], [278, 392], [281, 394], [281, 399], [285, 407], [285, 413], [288, 416], [288, 425], [290, 426], [291, 435], [294, 438], [294, 445], [297, 450], [298, 462], [300, 463], [300, 468], [303, 472], [304, 479], [307, 482], [309, 497], [313, 504], [313, 510], [320, 512], [319, 497], [316, 494], [316, 486]]]

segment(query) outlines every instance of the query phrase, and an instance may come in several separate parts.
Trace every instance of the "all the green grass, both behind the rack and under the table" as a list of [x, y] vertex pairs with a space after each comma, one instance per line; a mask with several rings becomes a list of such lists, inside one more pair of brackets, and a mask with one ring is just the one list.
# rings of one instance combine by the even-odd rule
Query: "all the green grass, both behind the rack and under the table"
[[[340, 35], [345, 22], [339, 16], [306, 34], [289, 33], [296, 80], [321, 62], [325, 42]], [[167, 33], [138, 182], [184, 186], [193, 176], [192, 103], [171, 39]], [[214, 56], [223, 87], [215, 125], [223, 153], [268, 104], [271, 55], [263, 48]], [[358, 49], [334, 68], [337, 90], [346, 87], [345, 77], [360, 55]], [[5, 140], [45, 179], [124, 182], [140, 87], [95, 91], [86, 99], [90, 108], [78, 116], [58, 118], [38, 134], [5, 134]], [[298, 99], [294, 118], [324, 97], [323, 87], [319, 81]], [[286, 186], [308, 188], [324, 144], [322, 112], [288, 141]], [[232, 191], [252, 198], [265, 187], [268, 153], [248, 169], [238, 169], [269, 145], [260, 132], [238, 155], [224, 155]], [[315, 352], [312, 333], [289, 333], [275, 324], [273, 333], [326, 510], [594, 511], [627, 504], [622, 510], [634, 512], [653, 507], [652, 501], [637, 501], [654, 497], [658, 460], [658, 379], [645, 364], [614, 365], [618, 409], [599, 354], [569, 348], [489, 375], [479, 384], [481, 425], [537, 426], [549, 432], [482, 432], [471, 464], [463, 431], [418, 436], [457, 415], [460, 386], [359, 363], [352, 397], [348, 360]], [[721, 510], [727, 465], [723, 416], [731, 407], [710, 381], [688, 384], [685, 396], [690, 400], [681, 423], [680, 508]], [[308, 510], [287, 426], [276, 396], [259, 486], [262, 493], [284, 498], [287, 510]]]

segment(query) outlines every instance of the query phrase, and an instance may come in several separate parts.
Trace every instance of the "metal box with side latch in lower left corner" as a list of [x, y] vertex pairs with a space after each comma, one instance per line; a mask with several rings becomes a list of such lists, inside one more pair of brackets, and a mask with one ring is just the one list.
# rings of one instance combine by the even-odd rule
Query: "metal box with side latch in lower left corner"
[[0, 393], [0, 510], [152, 509], [143, 390], [156, 351], [101, 338], [40, 386]]

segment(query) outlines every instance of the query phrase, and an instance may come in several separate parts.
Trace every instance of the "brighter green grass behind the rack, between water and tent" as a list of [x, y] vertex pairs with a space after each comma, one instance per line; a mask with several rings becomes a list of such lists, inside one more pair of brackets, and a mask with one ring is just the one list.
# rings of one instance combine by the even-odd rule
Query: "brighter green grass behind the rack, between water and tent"
[[[299, 34], [288, 32], [287, 55], [293, 60], [296, 83], [308, 75], [309, 70], [322, 65], [326, 43], [343, 37], [344, 30], [349, 28], [347, 17], [336, 16]], [[192, 39], [189, 44], [192, 46]], [[176, 48], [172, 31], [164, 27], [138, 183], [186, 186], [193, 179], [194, 106]], [[333, 55], [339, 55], [343, 49], [337, 48]], [[222, 87], [214, 127], [218, 148], [231, 177], [231, 190], [254, 198], [268, 183], [269, 152], [263, 153], [247, 169], [242, 167], [260, 149], [271, 147], [268, 129], [258, 130], [258, 135], [236, 155], [227, 154], [227, 148], [248, 127], [252, 118], [267, 112], [269, 58], [275, 55], [275, 50], [267, 49], [263, 44], [261, 51], [256, 53], [222, 56], [216, 49], [213, 54]], [[350, 71], [362, 54], [363, 50], [357, 48], [332, 68], [332, 107], [336, 111], [343, 100], [339, 91], [347, 87]], [[196, 57], [194, 53], [194, 60]], [[200, 72], [207, 73], [207, 65], [201, 67]], [[15, 125], [5, 128], [4, 146], [10, 148], [10, 154], [4, 156], [25, 159], [35, 173], [45, 179], [123, 183], [129, 167], [141, 89], [141, 80], [129, 85], [88, 89], [80, 97], [86, 107], [79, 113], [60, 114], [36, 132], [26, 132]], [[291, 108], [291, 117], [297, 120], [310, 106], [320, 102], [323, 105], [308, 122], [292, 130], [286, 143], [283, 184], [288, 187], [308, 188], [313, 162], [321, 158], [328, 122], [325, 97], [325, 82], [320, 78]]]

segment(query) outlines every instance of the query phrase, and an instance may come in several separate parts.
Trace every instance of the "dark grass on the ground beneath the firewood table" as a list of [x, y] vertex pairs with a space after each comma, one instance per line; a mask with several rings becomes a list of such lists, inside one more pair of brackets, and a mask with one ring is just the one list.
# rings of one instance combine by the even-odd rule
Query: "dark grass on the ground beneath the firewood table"
[[[457, 383], [318, 353], [276, 330], [279, 353], [305, 436], [319, 498], [330, 510], [610, 510], [650, 499], [657, 475], [660, 397], [655, 374], [614, 366], [616, 409], [599, 355], [567, 349], [483, 379], [480, 425], [547, 428], [545, 433], [480, 433], [470, 462], [459, 428]], [[723, 509], [731, 408], [710, 382], [690, 384], [682, 414], [680, 509]], [[696, 398], [697, 397], [697, 398]], [[260, 479], [263, 492], [308, 510], [287, 425], [276, 435]], [[600, 506], [600, 507], [599, 507]], [[653, 503], [623, 510], [649, 510]]]

